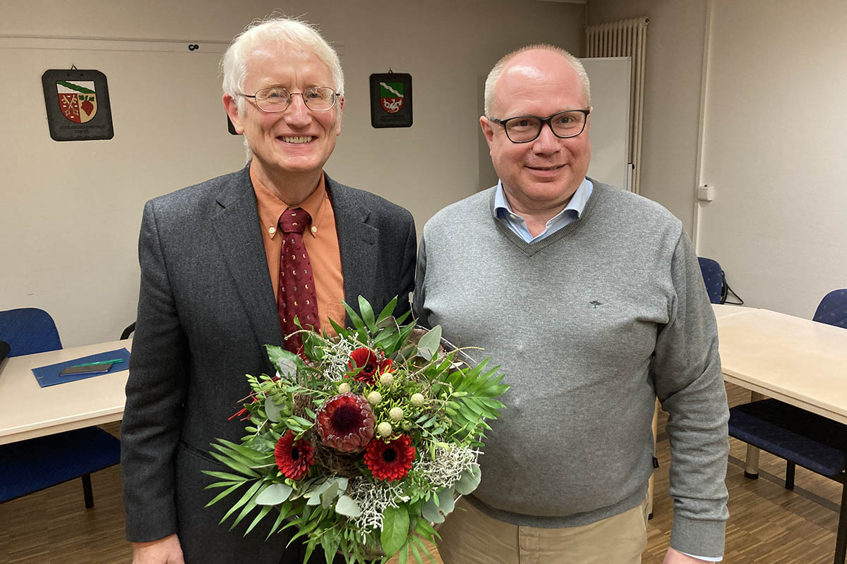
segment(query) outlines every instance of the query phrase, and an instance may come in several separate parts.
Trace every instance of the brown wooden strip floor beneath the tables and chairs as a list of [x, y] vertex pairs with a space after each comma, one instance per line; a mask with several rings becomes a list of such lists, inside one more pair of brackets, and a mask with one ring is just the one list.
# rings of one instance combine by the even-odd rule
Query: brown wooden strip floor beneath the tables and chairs
[[[749, 401], [749, 392], [728, 384], [729, 403]], [[664, 420], [659, 421], [656, 497], [644, 564], [661, 564], [673, 523], [667, 497], [670, 454]], [[108, 425], [117, 432], [117, 424]], [[731, 439], [727, 471], [729, 522], [724, 562], [828, 564], [835, 547], [841, 485], [797, 468], [796, 489], [785, 490], [784, 463], [761, 453], [761, 474], [748, 480], [739, 466], [745, 446]], [[95, 507], [83, 507], [79, 480], [0, 504], [0, 564], [128, 564], [117, 467], [92, 476]], [[440, 562], [440, 559], [437, 559]], [[413, 559], [411, 560], [413, 561]], [[238, 562], [237, 557], [233, 562]]]

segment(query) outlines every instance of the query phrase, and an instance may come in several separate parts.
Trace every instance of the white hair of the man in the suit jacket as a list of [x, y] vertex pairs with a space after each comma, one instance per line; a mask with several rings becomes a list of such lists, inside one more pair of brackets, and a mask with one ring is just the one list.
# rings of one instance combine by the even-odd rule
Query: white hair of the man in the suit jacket
[[254, 20], [230, 43], [221, 59], [220, 68], [224, 74], [224, 94], [232, 96], [238, 104], [238, 111], [244, 107], [244, 100], [238, 93], [244, 92], [244, 80], [247, 74], [247, 58], [258, 47], [275, 44], [291, 52], [313, 52], [329, 67], [332, 74], [332, 87], [339, 96], [344, 96], [344, 71], [338, 53], [330, 47], [313, 25], [299, 19], [281, 15]]

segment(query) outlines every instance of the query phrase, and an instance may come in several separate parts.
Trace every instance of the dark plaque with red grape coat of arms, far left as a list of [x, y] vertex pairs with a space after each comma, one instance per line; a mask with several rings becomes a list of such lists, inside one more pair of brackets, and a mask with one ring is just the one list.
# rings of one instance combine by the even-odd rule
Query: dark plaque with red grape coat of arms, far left
[[53, 140], [114, 137], [105, 74], [98, 70], [54, 68], [42, 74], [42, 86]]

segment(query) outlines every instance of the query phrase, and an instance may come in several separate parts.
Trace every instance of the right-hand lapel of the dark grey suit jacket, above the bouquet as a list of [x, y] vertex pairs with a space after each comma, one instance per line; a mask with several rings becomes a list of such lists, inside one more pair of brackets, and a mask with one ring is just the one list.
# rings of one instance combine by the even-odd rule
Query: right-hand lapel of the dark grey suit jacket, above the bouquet
[[[326, 187], [335, 214], [335, 230], [344, 273], [344, 299], [358, 309], [360, 295], [373, 299], [379, 229], [368, 225], [369, 211], [360, 205], [353, 189], [326, 175]], [[347, 324], [350, 325], [349, 316]]]

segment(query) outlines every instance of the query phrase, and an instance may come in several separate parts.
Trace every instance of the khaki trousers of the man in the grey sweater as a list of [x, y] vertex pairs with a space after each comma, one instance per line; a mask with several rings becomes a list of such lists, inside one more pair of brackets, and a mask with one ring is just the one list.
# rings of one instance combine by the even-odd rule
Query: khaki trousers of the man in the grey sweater
[[640, 564], [647, 500], [582, 527], [534, 528], [492, 519], [462, 498], [438, 532], [444, 564]]

